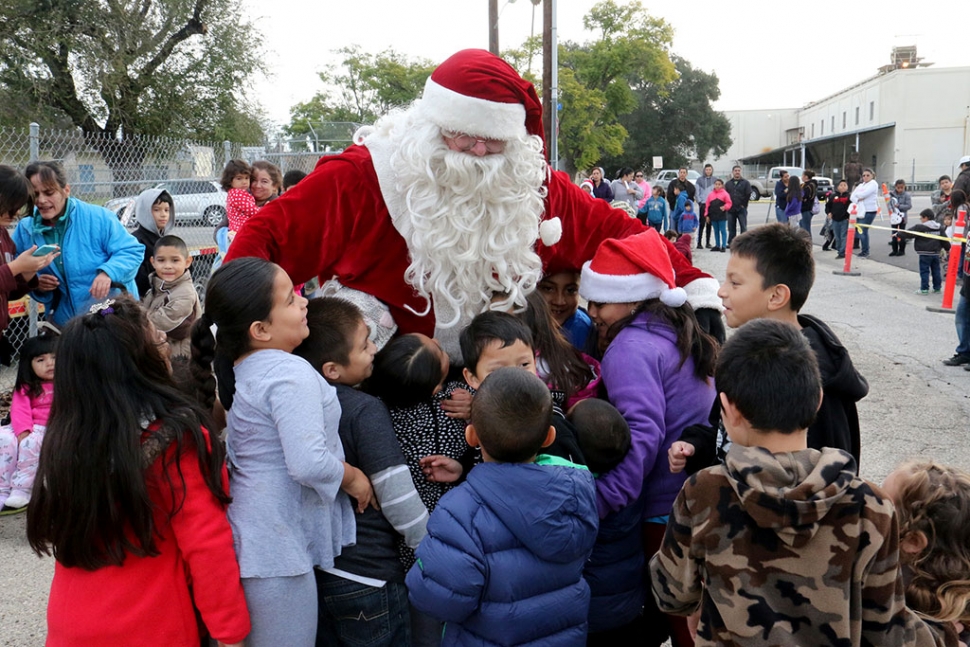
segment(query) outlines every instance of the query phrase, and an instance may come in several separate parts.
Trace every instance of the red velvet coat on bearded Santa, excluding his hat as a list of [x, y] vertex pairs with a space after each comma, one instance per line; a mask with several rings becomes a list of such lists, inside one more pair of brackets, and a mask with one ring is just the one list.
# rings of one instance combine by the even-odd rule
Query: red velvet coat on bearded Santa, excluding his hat
[[[548, 188], [543, 219], [558, 217], [563, 233], [551, 247], [536, 243], [546, 272], [579, 270], [607, 238], [625, 238], [647, 229], [626, 212], [602, 200], [590, 200], [565, 173], [550, 172]], [[691, 267], [669, 241], [667, 245], [677, 285], [683, 287], [700, 278], [713, 281]], [[391, 222], [365, 146], [351, 146], [340, 155], [321, 158], [310, 175], [260, 209], [236, 235], [226, 262], [245, 256], [277, 263], [294, 283], [336, 276], [342, 285], [386, 303], [400, 333], [434, 334], [433, 309], [419, 317], [404, 308], [408, 305], [424, 312], [427, 304], [404, 280], [409, 264], [407, 244]], [[700, 307], [705, 305], [720, 307], [720, 300]]]

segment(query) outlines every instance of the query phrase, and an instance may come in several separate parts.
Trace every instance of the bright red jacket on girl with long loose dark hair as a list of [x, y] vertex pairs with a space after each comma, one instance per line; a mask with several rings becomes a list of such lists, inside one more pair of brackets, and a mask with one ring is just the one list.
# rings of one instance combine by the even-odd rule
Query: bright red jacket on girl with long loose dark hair
[[[159, 458], [145, 474], [161, 554], [128, 555], [122, 566], [95, 571], [55, 564], [47, 604], [48, 647], [198, 647], [193, 600], [215, 639], [236, 643], [249, 634], [225, 506], [206, 486], [191, 442], [183, 443], [178, 461], [173, 443], [164, 461], [167, 468]], [[225, 470], [222, 478], [228, 483]], [[171, 519], [166, 479], [176, 492], [185, 482], [181, 508]]]

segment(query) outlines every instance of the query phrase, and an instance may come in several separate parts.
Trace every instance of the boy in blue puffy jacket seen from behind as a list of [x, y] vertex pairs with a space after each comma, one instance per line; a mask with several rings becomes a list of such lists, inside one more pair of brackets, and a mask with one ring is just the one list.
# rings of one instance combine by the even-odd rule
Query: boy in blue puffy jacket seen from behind
[[548, 387], [516, 367], [472, 401], [465, 437], [485, 462], [441, 498], [407, 575], [411, 603], [445, 622], [444, 647], [586, 644], [595, 486], [585, 467], [539, 454], [551, 419]]

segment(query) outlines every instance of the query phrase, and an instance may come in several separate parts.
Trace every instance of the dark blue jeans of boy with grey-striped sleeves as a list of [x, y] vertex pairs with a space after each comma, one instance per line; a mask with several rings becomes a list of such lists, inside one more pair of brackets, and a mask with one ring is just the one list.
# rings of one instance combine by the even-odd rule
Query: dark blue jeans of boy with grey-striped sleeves
[[402, 583], [381, 588], [346, 580], [319, 569], [317, 578], [317, 647], [411, 644], [408, 592]]

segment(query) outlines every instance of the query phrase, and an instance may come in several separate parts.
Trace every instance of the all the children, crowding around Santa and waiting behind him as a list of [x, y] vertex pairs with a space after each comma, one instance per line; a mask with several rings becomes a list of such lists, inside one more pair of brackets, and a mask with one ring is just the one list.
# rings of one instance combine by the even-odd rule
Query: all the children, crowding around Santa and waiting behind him
[[[248, 178], [227, 166], [230, 232]], [[0, 167], [8, 221], [19, 179]], [[868, 383], [800, 312], [809, 234], [733, 239], [721, 345], [676, 287], [666, 207], [655, 188], [651, 229], [475, 317], [453, 366], [420, 334], [378, 349], [357, 306], [260, 259], [216, 270], [202, 308], [171, 197], [143, 194], [141, 303], [25, 344], [0, 428], [0, 504], [57, 560], [48, 644], [955, 647], [970, 476], [858, 476]], [[714, 249], [730, 209], [715, 180]], [[7, 252], [4, 297], [53, 260], [32, 251]]]

